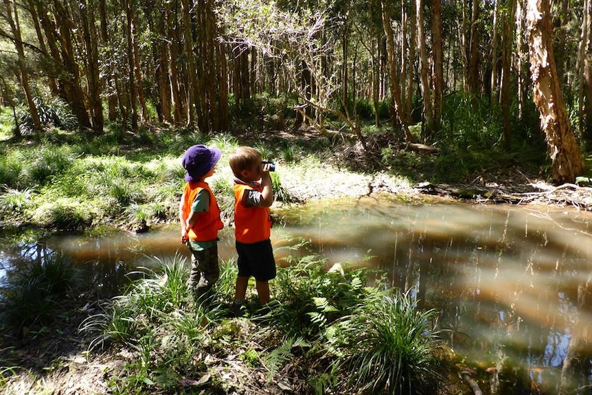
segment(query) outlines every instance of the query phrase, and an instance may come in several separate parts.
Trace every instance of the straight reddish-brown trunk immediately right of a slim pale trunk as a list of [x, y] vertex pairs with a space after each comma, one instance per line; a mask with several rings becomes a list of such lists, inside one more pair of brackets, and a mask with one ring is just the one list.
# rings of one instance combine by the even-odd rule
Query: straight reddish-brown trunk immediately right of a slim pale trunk
[[444, 96], [444, 54], [442, 47], [442, 3], [432, 0], [432, 52], [433, 52], [433, 132], [440, 132], [442, 100]]

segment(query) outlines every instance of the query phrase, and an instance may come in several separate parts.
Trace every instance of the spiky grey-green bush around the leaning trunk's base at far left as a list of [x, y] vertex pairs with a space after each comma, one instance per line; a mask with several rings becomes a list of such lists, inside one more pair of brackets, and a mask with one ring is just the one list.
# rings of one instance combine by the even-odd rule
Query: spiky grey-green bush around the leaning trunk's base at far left
[[[67, 131], [78, 128], [78, 120], [73, 115], [68, 104], [59, 98], [33, 98], [33, 102], [39, 115], [42, 126], [55, 126]], [[27, 107], [21, 107], [17, 113], [19, 128], [22, 135], [30, 135], [34, 132], [33, 118]]]

